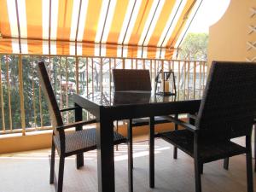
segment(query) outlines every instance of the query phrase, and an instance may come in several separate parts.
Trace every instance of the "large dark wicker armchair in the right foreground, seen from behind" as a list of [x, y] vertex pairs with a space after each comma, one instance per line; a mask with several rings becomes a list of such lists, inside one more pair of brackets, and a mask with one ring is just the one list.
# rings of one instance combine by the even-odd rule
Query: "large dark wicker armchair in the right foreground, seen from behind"
[[[159, 134], [194, 158], [196, 192], [201, 192], [201, 165], [237, 154], [246, 154], [247, 191], [253, 191], [255, 82], [255, 63], [213, 61], [195, 125], [170, 117], [185, 129]], [[242, 136], [246, 137], [246, 147], [230, 141]]]

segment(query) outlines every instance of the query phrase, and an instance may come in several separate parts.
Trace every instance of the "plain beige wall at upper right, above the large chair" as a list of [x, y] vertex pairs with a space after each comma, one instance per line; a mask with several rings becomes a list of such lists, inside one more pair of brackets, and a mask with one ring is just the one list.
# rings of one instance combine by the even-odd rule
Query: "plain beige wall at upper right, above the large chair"
[[[247, 42], [256, 43], [256, 32], [248, 34], [249, 26], [256, 26], [255, 0], [230, 0], [223, 17], [209, 29], [208, 61], [247, 61], [255, 58], [256, 49]], [[255, 44], [256, 45], [256, 44]]]

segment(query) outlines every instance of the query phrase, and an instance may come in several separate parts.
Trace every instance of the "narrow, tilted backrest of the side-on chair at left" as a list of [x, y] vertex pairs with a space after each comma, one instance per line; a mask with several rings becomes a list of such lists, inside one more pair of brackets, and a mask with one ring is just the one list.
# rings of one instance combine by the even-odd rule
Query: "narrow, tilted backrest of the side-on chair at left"
[[55, 98], [54, 91], [49, 81], [49, 76], [44, 65], [44, 61], [38, 63], [38, 76], [41, 83], [42, 90], [49, 108], [49, 115], [52, 121], [53, 130], [55, 133], [56, 126], [63, 125], [61, 112]]

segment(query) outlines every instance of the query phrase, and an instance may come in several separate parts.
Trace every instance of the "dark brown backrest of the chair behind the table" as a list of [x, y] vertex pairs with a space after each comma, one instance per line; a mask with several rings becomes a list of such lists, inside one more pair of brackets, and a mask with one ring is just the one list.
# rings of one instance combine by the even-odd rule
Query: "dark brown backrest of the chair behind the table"
[[113, 69], [113, 86], [115, 91], [151, 91], [149, 71], [144, 69]]

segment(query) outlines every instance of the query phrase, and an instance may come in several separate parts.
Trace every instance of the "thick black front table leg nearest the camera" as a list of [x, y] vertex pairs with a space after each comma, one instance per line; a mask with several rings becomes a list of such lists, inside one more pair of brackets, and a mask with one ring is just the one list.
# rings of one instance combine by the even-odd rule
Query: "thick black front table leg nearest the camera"
[[113, 120], [102, 111], [96, 124], [98, 191], [114, 192]]

